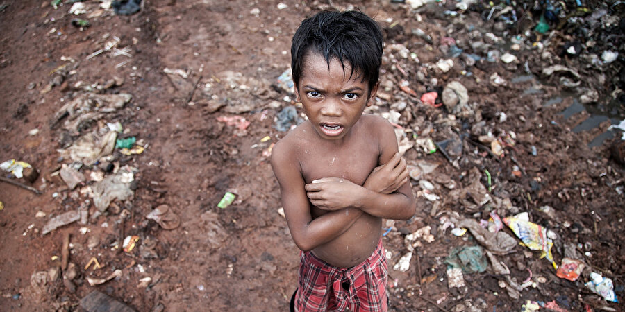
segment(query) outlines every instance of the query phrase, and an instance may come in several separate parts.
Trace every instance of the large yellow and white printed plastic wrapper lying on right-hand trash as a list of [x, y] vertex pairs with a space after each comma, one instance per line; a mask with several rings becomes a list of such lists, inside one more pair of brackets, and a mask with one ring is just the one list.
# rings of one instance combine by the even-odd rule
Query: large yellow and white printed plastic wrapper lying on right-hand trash
[[536, 223], [529, 222], [526, 212], [503, 218], [503, 223], [506, 223], [512, 229], [512, 232], [515, 232], [527, 248], [540, 250], [540, 257], [547, 257], [553, 268], [558, 269], [556, 261], [553, 261], [553, 254], [551, 254], [553, 241], [547, 237], [547, 229]]

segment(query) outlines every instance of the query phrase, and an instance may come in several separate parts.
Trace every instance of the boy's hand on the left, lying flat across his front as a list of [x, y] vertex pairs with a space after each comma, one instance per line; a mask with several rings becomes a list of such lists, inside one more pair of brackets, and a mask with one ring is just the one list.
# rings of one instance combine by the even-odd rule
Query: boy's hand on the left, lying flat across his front
[[323, 210], [339, 210], [353, 205], [353, 195], [360, 188], [340, 177], [324, 177], [306, 184], [310, 203]]

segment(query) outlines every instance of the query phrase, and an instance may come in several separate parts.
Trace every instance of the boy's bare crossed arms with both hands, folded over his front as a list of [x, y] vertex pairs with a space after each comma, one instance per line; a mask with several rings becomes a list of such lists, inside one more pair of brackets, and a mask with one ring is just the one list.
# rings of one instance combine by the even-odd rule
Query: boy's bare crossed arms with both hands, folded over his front
[[[397, 151], [397, 142], [394, 142], [394, 146], [394, 150]], [[397, 219], [408, 219], [414, 214], [412, 191], [410, 184], [406, 183], [408, 177], [406, 163], [399, 153], [391, 153], [390, 156], [388, 153], [387, 155], [383, 153], [380, 158], [385, 160], [390, 158], [390, 160], [383, 166], [376, 167], [367, 177], [363, 187], [347, 180], [340, 182], [340, 179], [331, 177], [322, 179], [325, 182], [306, 184], [306, 189], [313, 187], [313, 190], [307, 193], [301, 172], [297, 170], [299, 164], [294, 160], [295, 157], [288, 155], [288, 150], [276, 147], [272, 154], [272, 167], [280, 184], [282, 203], [291, 236], [301, 250], [312, 250], [335, 239], [347, 231], [363, 212], [381, 218]], [[392, 151], [392, 146], [390, 150]], [[348, 187], [350, 189], [346, 191], [356, 191], [358, 196], [353, 197], [351, 193], [341, 193], [341, 191], [338, 193], [328, 191], [335, 187], [334, 184]], [[319, 191], [314, 190], [317, 185], [320, 186]], [[394, 193], [395, 191], [401, 193]], [[316, 195], [312, 195], [313, 193]], [[350, 194], [350, 196], [345, 196], [345, 194]], [[320, 209], [334, 211], [329, 211], [313, 220], [310, 215], [309, 197], [311, 197], [310, 202]], [[357, 198], [358, 202], [349, 201], [349, 198]], [[326, 200], [338, 202], [338, 205], [328, 205], [324, 203]]]

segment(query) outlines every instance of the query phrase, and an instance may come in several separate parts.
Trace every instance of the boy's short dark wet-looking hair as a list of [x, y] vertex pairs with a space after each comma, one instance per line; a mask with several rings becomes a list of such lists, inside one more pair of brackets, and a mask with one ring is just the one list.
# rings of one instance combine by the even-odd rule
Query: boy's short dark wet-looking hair
[[384, 39], [380, 26], [363, 12], [319, 12], [304, 19], [293, 35], [291, 70], [297, 88], [306, 53], [320, 53], [330, 67], [331, 58], [338, 58], [345, 71], [351, 65], [353, 76], [360, 71], [368, 80], [369, 91], [378, 83]]

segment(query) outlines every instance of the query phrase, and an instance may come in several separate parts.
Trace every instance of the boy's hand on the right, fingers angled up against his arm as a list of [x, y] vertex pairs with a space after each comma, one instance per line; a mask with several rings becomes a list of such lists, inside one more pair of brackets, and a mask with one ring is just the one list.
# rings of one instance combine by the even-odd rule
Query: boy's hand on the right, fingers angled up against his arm
[[377, 193], [390, 194], [406, 183], [406, 177], [406, 159], [395, 153], [386, 164], [374, 168], [363, 187]]

